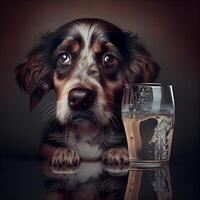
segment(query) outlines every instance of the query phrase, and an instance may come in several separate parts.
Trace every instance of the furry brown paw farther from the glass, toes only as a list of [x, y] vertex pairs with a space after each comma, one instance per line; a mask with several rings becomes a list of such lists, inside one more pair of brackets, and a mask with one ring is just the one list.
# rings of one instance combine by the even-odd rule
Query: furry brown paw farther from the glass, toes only
[[80, 157], [73, 149], [57, 148], [51, 157], [50, 164], [54, 167], [73, 167], [78, 165]]

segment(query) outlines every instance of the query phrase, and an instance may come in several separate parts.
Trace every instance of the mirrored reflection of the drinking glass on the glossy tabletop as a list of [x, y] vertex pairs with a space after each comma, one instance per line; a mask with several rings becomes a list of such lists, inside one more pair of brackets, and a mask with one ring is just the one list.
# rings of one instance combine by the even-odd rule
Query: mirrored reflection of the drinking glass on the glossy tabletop
[[131, 169], [124, 200], [158, 199], [172, 200], [169, 167]]

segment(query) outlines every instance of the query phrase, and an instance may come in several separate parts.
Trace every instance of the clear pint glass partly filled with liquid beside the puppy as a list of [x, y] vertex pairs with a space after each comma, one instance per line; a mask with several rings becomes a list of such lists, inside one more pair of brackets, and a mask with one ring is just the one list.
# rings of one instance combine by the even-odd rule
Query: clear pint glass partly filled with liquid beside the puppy
[[171, 85], [125, 85], [122, 120], [130, 165], [160, 167], [169, 161], [175, 122], [175, 103]]

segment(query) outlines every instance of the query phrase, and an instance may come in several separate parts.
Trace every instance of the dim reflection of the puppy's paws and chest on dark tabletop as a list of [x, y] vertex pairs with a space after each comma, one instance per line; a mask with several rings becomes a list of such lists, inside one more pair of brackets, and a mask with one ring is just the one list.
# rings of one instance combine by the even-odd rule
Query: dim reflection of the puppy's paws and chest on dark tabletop
[[48, 200], [124, 199], [127, 166], [107, 168], [101, 162], [81, 162], [74, 171], [73, 167], [54, 169], [48, 163], [43, 165]]

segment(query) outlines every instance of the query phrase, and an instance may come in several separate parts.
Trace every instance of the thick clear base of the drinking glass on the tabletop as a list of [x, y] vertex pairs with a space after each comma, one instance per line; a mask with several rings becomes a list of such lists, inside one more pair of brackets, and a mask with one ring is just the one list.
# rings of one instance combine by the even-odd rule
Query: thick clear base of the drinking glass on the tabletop
[[131, 168], [159, 168], [167, 165], [168, 160], [129, 160], [129, 166]]

